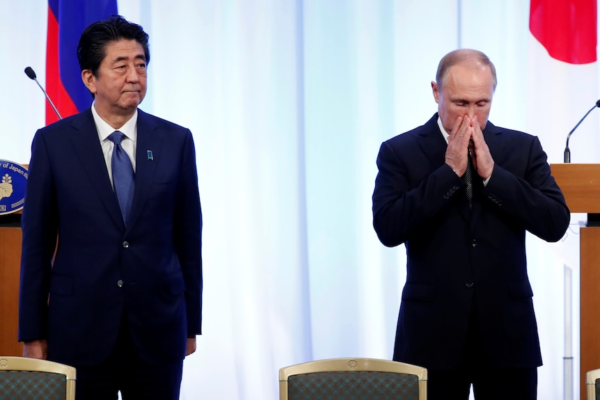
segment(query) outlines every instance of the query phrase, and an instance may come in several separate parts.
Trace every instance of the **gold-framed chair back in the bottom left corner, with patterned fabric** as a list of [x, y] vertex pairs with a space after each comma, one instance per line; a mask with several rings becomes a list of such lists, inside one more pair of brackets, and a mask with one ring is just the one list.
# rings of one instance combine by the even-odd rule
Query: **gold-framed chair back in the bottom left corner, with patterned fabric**
[[0, 398], [74, 400], [75, 369], [47, 360], [0, 356]]

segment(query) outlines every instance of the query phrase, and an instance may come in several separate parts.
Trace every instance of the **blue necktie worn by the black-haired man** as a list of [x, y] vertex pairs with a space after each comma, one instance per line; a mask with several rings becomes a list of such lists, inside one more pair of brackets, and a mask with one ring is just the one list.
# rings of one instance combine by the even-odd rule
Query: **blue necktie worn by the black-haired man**
[[135, 174], [132, 161], [129, 159], [125, 150], [123, 150], [123, 146], [121, 146], [123, 138], [125, 138], [125, 135], [120, 131], [114, 131], [109, 136], [109, 141], [115, 143], [111, 160], [113, 186], [115, 188], [117, 200], [119, 201], [121, 214], [123, 214], [123, 221], [127, 223], [127, 216], [129, 215], [129, 210], [132, 207], [132, 200], [134, 198]]

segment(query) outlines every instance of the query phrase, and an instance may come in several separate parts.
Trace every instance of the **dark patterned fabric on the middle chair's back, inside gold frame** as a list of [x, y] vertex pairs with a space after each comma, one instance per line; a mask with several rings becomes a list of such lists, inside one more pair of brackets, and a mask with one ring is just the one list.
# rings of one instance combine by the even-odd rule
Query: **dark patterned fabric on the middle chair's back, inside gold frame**
[[418, 400], [416, 375], [372, 371], [315, 372], [287, 378], [290, 400]]

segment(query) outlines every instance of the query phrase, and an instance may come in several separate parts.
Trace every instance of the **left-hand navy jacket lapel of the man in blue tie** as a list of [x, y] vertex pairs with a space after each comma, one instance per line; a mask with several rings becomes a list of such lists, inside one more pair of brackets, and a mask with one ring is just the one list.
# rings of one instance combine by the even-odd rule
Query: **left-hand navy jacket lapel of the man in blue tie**
[[92, 111], [87, 109], [80, 113], [71, 124], [73, 134], [71, 143], [79, 159], [79, 165], [90, 179], [95, 192], [106, 207], [111, 218], [123, 226], [123, 217], [113, 192], [113, 186], [106, 170], [106, 161], [102, 154], [102, 146], [98, 139], [98, 132], [92, 116]]

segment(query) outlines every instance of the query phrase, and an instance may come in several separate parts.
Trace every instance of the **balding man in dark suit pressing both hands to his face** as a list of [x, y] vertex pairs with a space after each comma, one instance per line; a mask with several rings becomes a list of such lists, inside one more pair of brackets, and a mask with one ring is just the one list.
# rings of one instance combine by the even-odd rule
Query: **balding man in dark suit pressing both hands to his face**
[[488, 121], [495, 89], [485, 54], [450, 52], [438, 112], [377, 157], [374, 228], [407, 255], [393, 359], [427, 367], [432, 400], [537, 396], [526, 231], [558, 241], [570, 216], [539, 140]]

